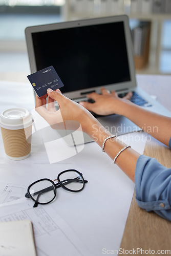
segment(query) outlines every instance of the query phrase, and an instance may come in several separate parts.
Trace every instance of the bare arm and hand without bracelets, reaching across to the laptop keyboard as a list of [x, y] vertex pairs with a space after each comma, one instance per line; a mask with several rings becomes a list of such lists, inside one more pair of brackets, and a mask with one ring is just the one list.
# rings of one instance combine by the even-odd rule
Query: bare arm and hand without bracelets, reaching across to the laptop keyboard
[[110, 94], [102, 88], [102, 95], [92, 93], [88, 98], [95, 100], [95, 103], [80, 102], [84, 108], [99, 115], [119, 114], [129, 118], [148, 134], [168, 146], [171, 137], [171, 118], [153, 113], [132, 103], [131, 93], [126, 98], [119, 98], [115, 91]]

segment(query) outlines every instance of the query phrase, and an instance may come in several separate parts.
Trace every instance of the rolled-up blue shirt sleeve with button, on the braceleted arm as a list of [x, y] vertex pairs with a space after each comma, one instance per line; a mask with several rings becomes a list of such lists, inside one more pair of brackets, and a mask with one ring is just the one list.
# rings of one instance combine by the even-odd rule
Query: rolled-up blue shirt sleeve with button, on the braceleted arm
[[171, 168], [155, 158], [140, 156], [135, 170], [136, 201], [147, 211], [155, 211], [171, 221]]

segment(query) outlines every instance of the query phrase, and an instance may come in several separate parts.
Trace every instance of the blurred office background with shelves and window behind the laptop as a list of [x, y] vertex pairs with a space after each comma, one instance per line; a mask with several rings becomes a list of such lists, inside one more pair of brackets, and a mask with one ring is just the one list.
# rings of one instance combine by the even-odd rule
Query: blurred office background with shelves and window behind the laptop
[[26, 27], [123, 13], [136, 72], [171, 74], [171, 0], [0, 0], [0, 80], [27, 81]]

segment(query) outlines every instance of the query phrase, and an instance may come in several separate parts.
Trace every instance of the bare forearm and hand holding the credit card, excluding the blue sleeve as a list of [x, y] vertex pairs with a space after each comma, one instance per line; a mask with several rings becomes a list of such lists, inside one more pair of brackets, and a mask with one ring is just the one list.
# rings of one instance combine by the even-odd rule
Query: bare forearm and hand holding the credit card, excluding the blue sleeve
[[[38, 98], [36, 96], [35, 110], [45, 118], [45, 120], [55, 129], [60, 129], [61, 122], [65, 123], [69, 120], [79, 122], [82, 131], [86, 132], [97, 144], [101, 147], [103, 141], [112, 134], [106, 130], [93, 116], [84, 109], [80, 104], [73, 102], [63, 96], [60, 91], [57, 92], [48, 90], [48, 105], [46, 106], [46, 97]], [[59, 104], [59, 110], [54, 108], [54, 100]], [[126, 145], [118, 138], [111, 138], [105, 142], [104, 151], [112, 160], [117, 153]], [[116, 159], [116, 164], [123, 172], [134, 181], [136, 162], [140, 155], [132, 148], [126, 148]]]

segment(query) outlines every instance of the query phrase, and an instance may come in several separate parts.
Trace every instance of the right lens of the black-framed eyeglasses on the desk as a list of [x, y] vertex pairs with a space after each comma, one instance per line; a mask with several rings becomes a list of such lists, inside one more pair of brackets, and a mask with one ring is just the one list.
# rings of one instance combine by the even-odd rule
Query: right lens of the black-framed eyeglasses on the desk
[[84, 182], [79, 173], [70, 171], [59, 176], [60, 183], [67, 189], [78, 191], [82, 189]]

